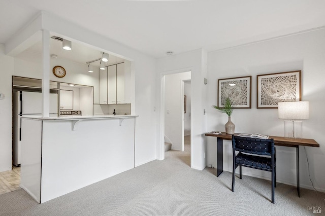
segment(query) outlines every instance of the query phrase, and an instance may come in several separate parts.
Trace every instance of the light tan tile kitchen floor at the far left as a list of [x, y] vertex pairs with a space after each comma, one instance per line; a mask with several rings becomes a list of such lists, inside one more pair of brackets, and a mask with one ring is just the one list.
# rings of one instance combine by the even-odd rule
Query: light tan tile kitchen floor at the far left
[[12, 170], [0, 172], [0, 195], [19, 189], [20, 167], [13, 166]]

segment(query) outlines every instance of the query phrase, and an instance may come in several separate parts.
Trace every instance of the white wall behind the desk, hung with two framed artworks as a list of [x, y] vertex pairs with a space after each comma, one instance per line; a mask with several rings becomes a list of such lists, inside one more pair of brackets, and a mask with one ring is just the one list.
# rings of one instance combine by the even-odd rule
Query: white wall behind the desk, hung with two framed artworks
[[[208, 131], [224, 131], [228, 120], [225, 114], [211, 107], [217, 104], [217, 80], [252, 76], [252, 108], [236, 109], [232, 121], [235, 132], [262, 133], [283, 136], [283, 120], [277, 109], [256, 109], [256, 75], [302, 70], [302, 100], [309, 101], [310, 116], [303, 123], [303, 137], [315, 139], [320, 148], [300, 148], [300, 185], [312, 189], [309, 180], [306, 154], [311, 180], [317, 190], [325, 192], [325, 29], [291, 35], [276, 40], [255, 43], [208, 54]], [[277, 181], [296, 185], [295, 148], [276, 147]], [[223, 169], [232, 171], [232, 148], [224, 141]], [[216, 167], [216, 138], [207, 138], [207, 164]], [[270, 173], [244, 169], [243, 174], [270, 179]]]

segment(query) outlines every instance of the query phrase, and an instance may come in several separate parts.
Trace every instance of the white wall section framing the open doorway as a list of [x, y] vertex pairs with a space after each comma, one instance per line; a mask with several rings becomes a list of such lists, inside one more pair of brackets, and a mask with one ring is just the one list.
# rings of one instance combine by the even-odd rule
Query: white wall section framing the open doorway
[[159, 159], [165, 157], [164, 152], [164, 101], [163, 101], [163, 77], [167, 74], [191, 71], [191, 167], [202, 170], [206, 166], [205, 160], [205, 137], [206, 118], [203, 110], [206, 109], [205, 94], [207, 86], [204, 85], [204, 78], [207, 76], [206, 52], [195, 50], [179, 55], [174, 55], [157, 60], [157, 103], [159, 104], [159, 134], [158, 143]]

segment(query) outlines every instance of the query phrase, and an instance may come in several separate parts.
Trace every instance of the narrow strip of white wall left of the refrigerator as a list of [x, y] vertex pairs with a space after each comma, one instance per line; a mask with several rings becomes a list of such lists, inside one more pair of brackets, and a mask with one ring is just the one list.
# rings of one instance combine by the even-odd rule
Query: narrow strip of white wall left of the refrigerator
[[0, 172], [11, 169], [12, 164], [12, 75], [14, 58], [5, 55], [5, 47], [0, 44]]

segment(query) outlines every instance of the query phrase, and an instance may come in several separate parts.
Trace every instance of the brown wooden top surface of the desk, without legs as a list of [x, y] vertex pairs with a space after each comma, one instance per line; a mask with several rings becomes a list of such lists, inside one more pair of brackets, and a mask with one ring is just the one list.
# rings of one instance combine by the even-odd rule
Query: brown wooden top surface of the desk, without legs
[[[235, 133], [234, 135], [238, 135]], [[232, 140], [232, 134], [226, 134], [221, 132], [221, 134], [206, 133], [206, 136], [215, 136], [221, 139]], [[319, 144], [314, 139], [300, 139], [300, 138], [289, 138], [283, 136], [269, 136], [269, 139], [274, 140], [274, 144], [277, 146], [287, 146], [287, 147], [297, 147], [297, 146], [310, 146], [319, 147]]]

